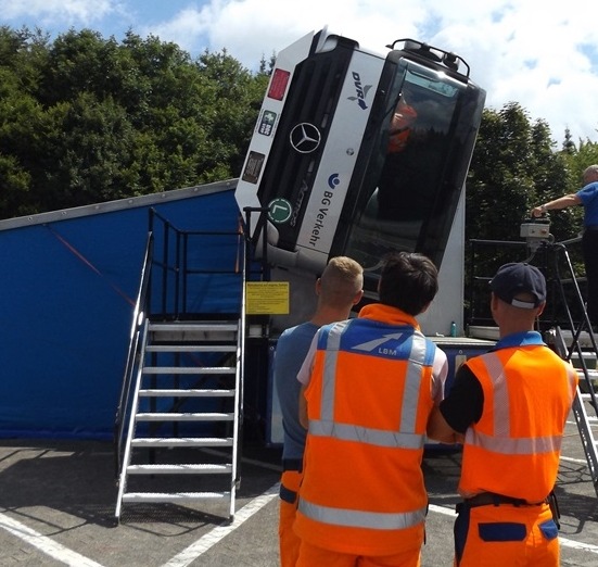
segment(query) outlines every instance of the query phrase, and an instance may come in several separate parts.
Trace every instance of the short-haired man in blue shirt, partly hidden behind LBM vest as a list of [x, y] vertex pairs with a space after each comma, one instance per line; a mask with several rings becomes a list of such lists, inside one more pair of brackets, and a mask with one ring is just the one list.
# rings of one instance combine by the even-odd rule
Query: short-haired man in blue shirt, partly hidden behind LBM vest
[[346, 319], [352, 307], [361, 300], [362, 287], [364, 269], [355, 260], [346, 256], [332, 257], [316, 280], [316, 312], [308, 322], [284, 330], [277, 342], [273, 381], [284, 430], [278, 526], [281, 567], [295, 566], [300, 546], [293, 524], [297, 492], [303, 478], [306, 432], [300, 423], [301, 385], [297, 373], [316, 331], [322, 325]]

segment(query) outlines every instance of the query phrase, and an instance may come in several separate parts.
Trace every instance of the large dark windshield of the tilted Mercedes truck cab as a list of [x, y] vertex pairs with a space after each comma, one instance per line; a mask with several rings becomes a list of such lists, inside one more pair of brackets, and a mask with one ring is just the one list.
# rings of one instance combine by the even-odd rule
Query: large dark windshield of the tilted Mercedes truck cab
[[461, 189], [450, 186], [455, 176], [447, 173], [451, 148], [465, 142], [456, 129], [467, 85], [411, 61], [406, 65], [403, 72], [398, 67], [386, 99], [385, 127], [374, 141], [347, 240], [346, 254], [370, 276], [391, 250], [417, 250], [437, 261], [433, 252], [444, 243], [433, 226], [446, 222], [447, 209], [453, 215], [443, 203]]

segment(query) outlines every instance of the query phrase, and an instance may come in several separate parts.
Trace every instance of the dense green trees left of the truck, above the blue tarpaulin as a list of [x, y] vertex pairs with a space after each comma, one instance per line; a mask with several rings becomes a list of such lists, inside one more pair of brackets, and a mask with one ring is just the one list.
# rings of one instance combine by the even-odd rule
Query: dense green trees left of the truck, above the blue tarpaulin
[[53, 42], [0, 27], [0, 216], [236, 177], [266, 88], [221, 53], [198, 60], [129, 32]]

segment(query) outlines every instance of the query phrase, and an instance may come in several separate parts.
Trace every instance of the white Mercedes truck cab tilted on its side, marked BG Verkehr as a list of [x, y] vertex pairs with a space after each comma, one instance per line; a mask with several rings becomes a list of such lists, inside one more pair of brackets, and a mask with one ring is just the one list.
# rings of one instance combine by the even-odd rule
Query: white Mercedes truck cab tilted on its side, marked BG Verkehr
[[349, 255], [370, 293], [389, 251], [441, 266], [485, 99], [458, 55], [387, 47], [325, 28], [282, 50], [236, 191], [268, 209], [271, 264], [319, 274]]

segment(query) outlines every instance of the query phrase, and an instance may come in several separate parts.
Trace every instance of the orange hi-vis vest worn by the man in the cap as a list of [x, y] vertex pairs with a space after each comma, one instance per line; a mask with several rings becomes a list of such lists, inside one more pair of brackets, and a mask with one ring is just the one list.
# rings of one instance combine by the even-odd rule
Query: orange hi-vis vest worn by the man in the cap
[[484, 410], [466, 432], [459, 492], [540, 502], [552, 490], [577, 373], [545, 345], [499, 349], [467, 365]]

